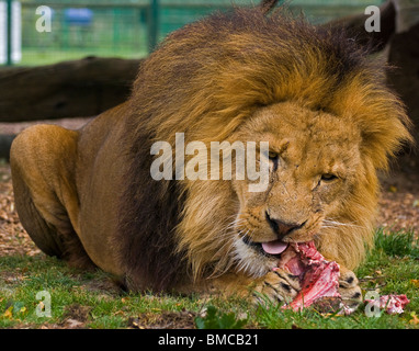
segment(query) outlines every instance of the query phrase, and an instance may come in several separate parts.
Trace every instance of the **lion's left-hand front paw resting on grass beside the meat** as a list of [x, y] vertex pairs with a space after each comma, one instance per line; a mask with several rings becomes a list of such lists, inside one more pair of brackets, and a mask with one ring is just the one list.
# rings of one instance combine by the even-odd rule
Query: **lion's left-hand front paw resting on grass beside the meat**
[[291, 302], [301, 291], [298, 276], [276, 269], [269, 272], [254, 287], [253, 302], [260, 304], [268, 297], [271, 302]]

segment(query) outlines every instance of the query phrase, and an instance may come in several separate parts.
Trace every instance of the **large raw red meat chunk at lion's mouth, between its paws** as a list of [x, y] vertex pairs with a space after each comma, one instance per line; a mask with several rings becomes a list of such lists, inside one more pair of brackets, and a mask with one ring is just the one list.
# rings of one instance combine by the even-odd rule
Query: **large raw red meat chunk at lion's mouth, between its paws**
[[325, 260], [314, 241], [291, 244], [281, 256], [278, 267], [297, 275], [302, 286], [301, 292], [285, 308], [301, 310], [322, 297], [340, 298], [339, 264]]

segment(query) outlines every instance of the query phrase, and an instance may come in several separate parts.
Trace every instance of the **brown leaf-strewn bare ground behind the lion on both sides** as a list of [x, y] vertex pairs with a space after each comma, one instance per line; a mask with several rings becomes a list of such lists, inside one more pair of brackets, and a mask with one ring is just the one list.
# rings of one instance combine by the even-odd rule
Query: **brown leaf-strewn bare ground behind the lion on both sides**
[[[53, 123], [76, 129], [88, 121], [89, 118], [68, 118]], [[0, 131], [3, 134], [19, 133], [32, 124], [34, 123], [0, 123]], [[377, 226], [390, 230], [412, 229], [418, 235], [419, 172], [396, 171], [382, 177], [382, 189]], [[20, 224], [14, 208], [10, 167], [7, 162], [0, 161], [0, 257], [33, 256], [38, 252]]]

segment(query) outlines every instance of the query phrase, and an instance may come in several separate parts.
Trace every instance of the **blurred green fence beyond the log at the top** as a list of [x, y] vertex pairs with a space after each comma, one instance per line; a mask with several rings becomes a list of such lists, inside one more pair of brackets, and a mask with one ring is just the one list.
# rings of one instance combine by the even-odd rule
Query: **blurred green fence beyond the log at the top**
[[[0, 0], [0, 64], [41, 65], [91, 55], [139, 58], [146, 56], [168, 33], [189, 22], [215, 10], [227, 10], [233, 5], [253, 5], [258, 2], [259, 0]], [[293, 12], [303, 11], [316, 23], [361, 13], [366, 5], [382, 2], [287, 1]], [[49, 13], [43, 11], [45, 7], [49, 9]]]

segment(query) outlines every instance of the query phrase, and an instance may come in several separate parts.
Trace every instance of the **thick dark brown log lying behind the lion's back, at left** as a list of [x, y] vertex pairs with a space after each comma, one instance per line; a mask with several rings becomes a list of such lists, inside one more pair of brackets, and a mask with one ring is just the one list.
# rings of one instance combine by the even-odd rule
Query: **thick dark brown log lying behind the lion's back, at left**
[[97, 115], [128, 98], [140, 61], [87, 57], [0, 69], [0, 122]]

